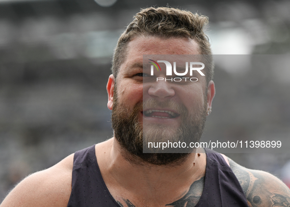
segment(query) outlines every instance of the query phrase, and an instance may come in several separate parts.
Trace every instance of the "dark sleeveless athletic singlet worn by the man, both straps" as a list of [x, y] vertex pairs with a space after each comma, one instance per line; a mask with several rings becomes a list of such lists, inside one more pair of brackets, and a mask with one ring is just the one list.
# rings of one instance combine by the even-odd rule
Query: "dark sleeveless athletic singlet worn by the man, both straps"
[[[204, 189], [195, 207], [248, 207], [243, 190], [223, 156], [210, 149]], [[120, 207], [108, 191], [97, 163], [95, 146], [75, 153], [68, 207]]]

